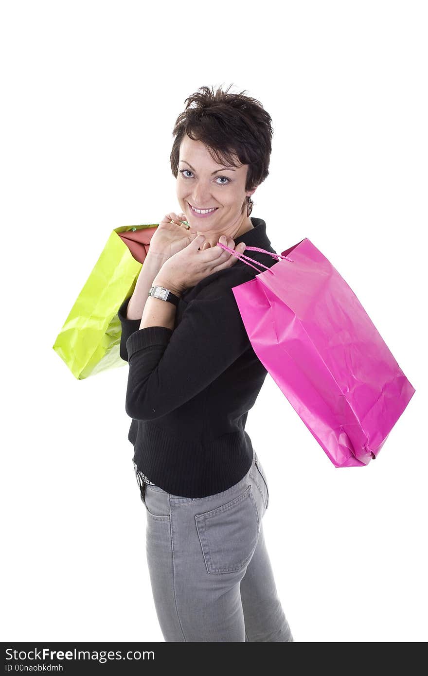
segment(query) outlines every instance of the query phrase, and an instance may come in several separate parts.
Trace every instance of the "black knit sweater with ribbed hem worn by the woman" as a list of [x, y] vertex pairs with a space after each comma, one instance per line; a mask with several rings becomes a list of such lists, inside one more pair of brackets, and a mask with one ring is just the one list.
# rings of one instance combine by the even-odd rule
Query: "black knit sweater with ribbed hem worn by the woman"
[[[266, 223], [240, 237], [247, 246], [275, 252]], [[245, 256], [271, 267], [276, 258], [260, 251]], [[237, 260], [186, 289], [176, 308], [174, 331], [139, 329], [126, 319], [129, 299], [118, 311], [120, 356], [129, 362], [125, 410], [133, 421], [128, 440], [133, 461], [168, 493], [204, 498], [240, 481], [253, 459], [245, 432], [250, 408], [267, 371], [258, 360], [239, 314], [232, 287], [258, 270]]]

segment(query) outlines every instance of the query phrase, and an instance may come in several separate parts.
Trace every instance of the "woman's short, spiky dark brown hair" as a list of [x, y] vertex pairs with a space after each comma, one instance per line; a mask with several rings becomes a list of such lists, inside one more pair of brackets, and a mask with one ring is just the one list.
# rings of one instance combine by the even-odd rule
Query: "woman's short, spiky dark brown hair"
[[[218, 164], [248, 164], [245, 190], [256, 188], [268, 176], [272, 152], [272, 118], [260, 101], [244, 95], [229, 94], [218, 87], [199, 87], [185, 103], [185, 111], [174, 124], [175, 137], [170, 155], [172, 174], [179, 169], [180, 145], [185, 134], [193, 141], [202, 141]], [[193, 107], [191, 104], [195, 104]]]

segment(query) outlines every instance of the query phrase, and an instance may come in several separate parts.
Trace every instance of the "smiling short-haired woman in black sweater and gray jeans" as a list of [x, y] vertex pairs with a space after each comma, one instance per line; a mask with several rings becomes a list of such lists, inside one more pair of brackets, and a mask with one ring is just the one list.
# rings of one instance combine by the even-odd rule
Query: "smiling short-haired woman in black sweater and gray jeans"
[[156, 228], [119, 310], [153, 598], [166, 641], [293, 642], [264, 543], [266, 475], [245, 432], [267, 371], [231, 290], [264, 268], [216, 245], [274, 251], [249, 216], [271, 118], [229, 89], [186, 101], [170, 155], [183, 212]]

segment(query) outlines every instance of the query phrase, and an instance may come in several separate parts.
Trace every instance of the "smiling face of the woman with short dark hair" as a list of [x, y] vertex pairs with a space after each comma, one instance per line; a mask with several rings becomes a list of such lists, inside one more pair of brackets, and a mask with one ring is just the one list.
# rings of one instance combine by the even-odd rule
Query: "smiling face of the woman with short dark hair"
[[[252, 195], [255, 189], [245, 191], [247, 170], [247, 164], [231, 168], [217, 164], [204, 143], [193, 141], [187, 135], [183, 137], [176, 195], [192, 231], [212, 235], [214, 240], [216, 235], [223, 234], [237, 237], [252, 227], [247, 217], [246, 196]], [[201, 218], [191, 207], [216, 210]]]

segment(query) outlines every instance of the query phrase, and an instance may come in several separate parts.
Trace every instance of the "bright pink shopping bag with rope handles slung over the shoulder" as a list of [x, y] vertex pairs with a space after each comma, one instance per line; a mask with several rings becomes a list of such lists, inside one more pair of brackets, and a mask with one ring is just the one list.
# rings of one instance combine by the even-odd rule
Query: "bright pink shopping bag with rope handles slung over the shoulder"
[[266, 370], [336, 467], [368, 464], [415, 389], [352, 289], [307, 237], [281, 255], [246, 247], [271, 268], [222, 247], [266, 268], [232, 288]]

